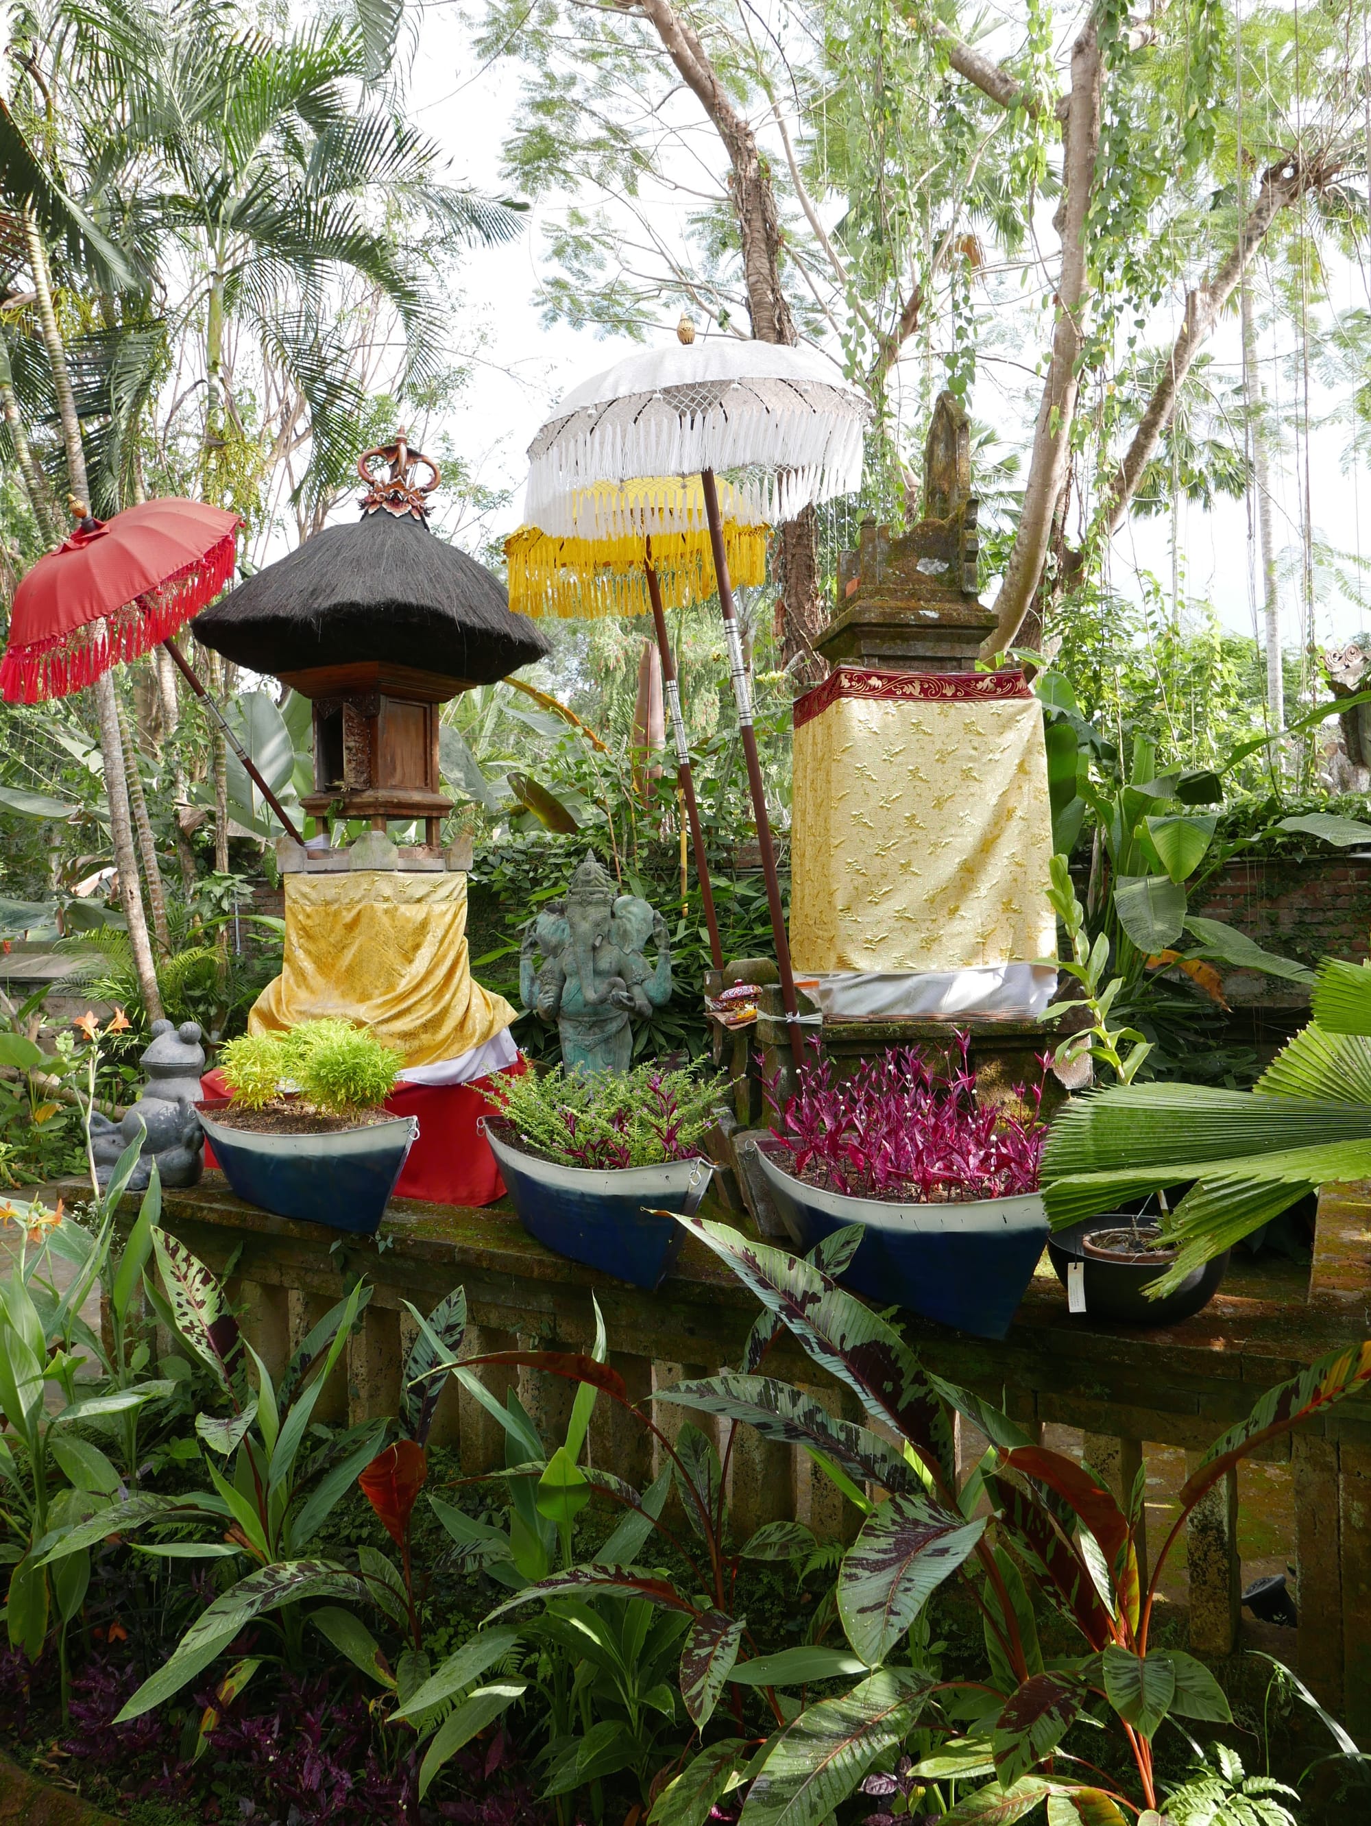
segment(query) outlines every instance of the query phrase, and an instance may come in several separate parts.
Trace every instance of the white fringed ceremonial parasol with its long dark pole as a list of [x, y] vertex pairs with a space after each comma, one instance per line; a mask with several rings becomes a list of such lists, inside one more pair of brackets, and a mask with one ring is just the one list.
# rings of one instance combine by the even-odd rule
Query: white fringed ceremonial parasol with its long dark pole
[[[780, 343], [696, 341], [681, 320], [677, 347], [646, 349], [575, 387], [529, 444], [524, 519], [544, 533], [612, 539], [685, 533], [699, 526], [681, 489], [606, 495], [606, 482], [699, 475], [714, 548], [738, 723], [747, 756], [781, 1002], [796, 1065], [803, 1050], [790, 944], [752, 730], [752, 690], [723, 542], [716, 471], [727, 473], [743, 520], [776, 524], [862, 486], [867, 402], [827, 356]], [[610, 524], [612, 522], [612, 524]]]

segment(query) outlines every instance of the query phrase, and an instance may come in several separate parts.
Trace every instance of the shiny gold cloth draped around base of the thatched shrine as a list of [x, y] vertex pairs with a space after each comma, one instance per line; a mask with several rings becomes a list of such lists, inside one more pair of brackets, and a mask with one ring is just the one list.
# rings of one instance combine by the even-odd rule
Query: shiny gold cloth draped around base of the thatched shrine
[[248, 1015], [248, 1034], [341, 1015], [405, 1055], [456, 1059], [515, 1021], [471, 977], [467, 878], [358, 869], [285, 876], [285, 968]]

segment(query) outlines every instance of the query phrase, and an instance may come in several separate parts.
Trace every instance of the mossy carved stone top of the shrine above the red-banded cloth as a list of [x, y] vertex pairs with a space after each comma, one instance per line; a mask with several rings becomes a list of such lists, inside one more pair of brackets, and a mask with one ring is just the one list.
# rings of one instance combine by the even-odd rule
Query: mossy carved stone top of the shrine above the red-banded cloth
[[924, 515], [907, 526], [862, 522], [838, 559], [838, 614], [814, 641], [829, 665], [887, 672], [971, 672], [995, 615], [979, 601], [980, 502], [971, 493], [971, 424], [940, 393], [924, 444]]

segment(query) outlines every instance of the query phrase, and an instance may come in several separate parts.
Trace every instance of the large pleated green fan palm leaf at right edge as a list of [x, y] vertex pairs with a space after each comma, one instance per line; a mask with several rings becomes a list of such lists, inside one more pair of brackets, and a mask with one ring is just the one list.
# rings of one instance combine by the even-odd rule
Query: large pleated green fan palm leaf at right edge
[[1148, 1293], [1205, 1262], [1320, 1185], [1371, 1178], [1371, 970], [1325, 959], [1313, 1021], [1252, 1090], [1115, 1085], [1075, 1097], [1042, 1152], [1053, 1229], [1123, 1200], [1188, 1187], [1163, 1218], [1179, 1253]]

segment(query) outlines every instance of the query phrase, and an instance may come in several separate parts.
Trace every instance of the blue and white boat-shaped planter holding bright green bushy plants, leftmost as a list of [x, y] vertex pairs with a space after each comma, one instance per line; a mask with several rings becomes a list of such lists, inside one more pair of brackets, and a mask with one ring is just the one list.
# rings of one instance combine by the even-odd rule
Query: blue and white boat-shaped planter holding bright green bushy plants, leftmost
[[376, 1234], [405, 1156], [418, 1139], [416, 1116], [392, 1116], [330, 1134], [257, 1134], [214, 1119], [228, 1101], [214, 1097], [195, 1108], [241, 1200], [277, 1218]]

